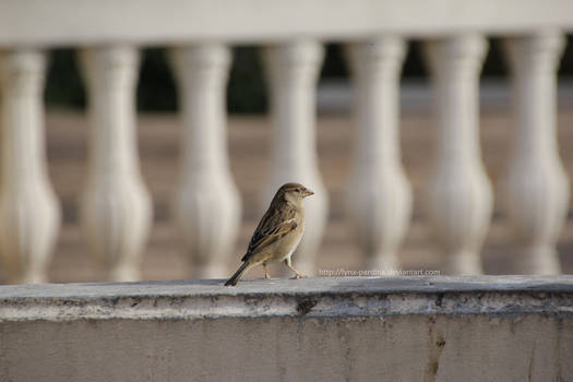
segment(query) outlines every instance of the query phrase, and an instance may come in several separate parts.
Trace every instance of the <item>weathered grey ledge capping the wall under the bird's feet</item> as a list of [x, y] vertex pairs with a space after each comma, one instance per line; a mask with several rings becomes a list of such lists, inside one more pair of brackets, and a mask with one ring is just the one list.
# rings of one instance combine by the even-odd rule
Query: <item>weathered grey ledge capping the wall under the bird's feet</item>
[[573, 276], [439, 276], [0, 287], [0, 321], [573, 314]]

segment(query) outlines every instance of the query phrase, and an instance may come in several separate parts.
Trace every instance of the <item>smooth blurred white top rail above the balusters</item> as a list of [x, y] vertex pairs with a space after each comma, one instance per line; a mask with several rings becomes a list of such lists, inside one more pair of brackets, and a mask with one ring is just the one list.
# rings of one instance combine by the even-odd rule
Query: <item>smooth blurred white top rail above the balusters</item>
[[569, 0], [0, 1], [0, 47], [573, 29]]

